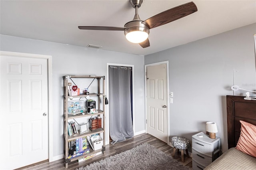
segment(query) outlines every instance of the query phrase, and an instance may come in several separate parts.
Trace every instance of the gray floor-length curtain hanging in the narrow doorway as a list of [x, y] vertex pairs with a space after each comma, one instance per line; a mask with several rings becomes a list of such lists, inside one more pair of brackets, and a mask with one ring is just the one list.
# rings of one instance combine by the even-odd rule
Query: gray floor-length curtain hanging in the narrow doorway
[[132, 69], [109, 66], [109, 128], [112, 144], [134, 136], [132, 127]]

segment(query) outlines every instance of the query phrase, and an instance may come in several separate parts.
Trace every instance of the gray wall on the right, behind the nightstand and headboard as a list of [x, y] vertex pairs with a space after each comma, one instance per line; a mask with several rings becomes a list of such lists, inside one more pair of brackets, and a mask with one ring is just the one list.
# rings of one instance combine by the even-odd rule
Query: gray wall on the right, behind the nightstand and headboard
[[169, 89], [174, 92], [169, 107], [171, 136], [191, 140], [213, 121], [222, 149], [228, 149], [226, 95], [233, 95], [232, 85], [256, 90], [253, 34], [256, 24], [145, 56], [145, 64], [169, 61]]

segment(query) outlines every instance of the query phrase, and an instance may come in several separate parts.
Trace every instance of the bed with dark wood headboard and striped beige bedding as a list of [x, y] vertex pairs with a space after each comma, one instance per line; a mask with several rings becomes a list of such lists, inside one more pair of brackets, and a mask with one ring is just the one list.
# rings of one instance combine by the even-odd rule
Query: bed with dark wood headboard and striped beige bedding
[[[255, 170], [256, 158], [241, 152], [235, 147], [238, 143], [240, 133], [244, 134], [244, 122], [252, 124], [252, 128], [254, 128], [254, 125], [256, 125], [256, 101], [245, 100], [242, 96], [226, 96], [226, 101], [228, 120], [228, 150], [214, 162], [208, 165], [205, 170]], [[241, 123], [243, 127], [242, 132]], [[256, 135], [255, 132], [253, 132], [253, 134]], [[252, 145], [255, 146], [256, 138], [252, 140], [254, 140]], [[241, 139], [239, 142], [241, 142]], [[246, 147], [244, 146], [244, 148]], [[253, 150], [252, 152], [256, 154], [256, 150]]]

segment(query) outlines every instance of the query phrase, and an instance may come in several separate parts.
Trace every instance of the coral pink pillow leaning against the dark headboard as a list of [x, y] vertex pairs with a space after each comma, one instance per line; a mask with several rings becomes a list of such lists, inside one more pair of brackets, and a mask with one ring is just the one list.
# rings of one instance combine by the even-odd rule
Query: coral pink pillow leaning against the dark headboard
[[256, 126], [240, 121], [241, 133], [236, 149], [256, 158]]

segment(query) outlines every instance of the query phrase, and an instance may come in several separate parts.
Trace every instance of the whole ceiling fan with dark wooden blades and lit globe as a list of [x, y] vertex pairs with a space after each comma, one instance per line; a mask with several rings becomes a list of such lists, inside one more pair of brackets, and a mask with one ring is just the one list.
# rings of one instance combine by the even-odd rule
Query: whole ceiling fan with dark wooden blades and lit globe
[[142, 21], [138, 15], [138, 8], [140, 8], [142, 2], [143, 0], [130, 0], [130, 4], [135, 8], [135, 16], [133, 20], [127, 22], [124, 27], [78, 26], [78, 28], [81, 30], [124, 31], [124, 35], [128, 41], [132, 43], [139, 43], [141, 47], [146, 48], [150, 46], [148, 34], [151, 28], [162, 26], [197, 11], [194, 2], [188, 2]]

